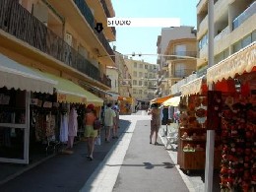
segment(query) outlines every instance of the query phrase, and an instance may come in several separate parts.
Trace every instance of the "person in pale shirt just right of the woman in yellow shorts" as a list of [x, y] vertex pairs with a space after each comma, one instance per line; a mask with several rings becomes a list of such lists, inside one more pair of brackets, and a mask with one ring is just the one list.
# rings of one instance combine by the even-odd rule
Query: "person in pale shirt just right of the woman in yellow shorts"
[[105, 142], [109, 142], [111, 129], [114, 125], [114, 117], [116, 117], [115, 111], [111, 108], [112, 104], [108, 103], [104, 111], [104, 126], [106, 129]]

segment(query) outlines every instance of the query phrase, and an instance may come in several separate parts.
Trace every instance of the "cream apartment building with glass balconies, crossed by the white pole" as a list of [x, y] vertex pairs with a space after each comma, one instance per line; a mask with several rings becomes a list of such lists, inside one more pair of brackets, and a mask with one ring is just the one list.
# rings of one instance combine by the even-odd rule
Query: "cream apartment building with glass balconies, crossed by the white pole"
[[[255, 0], [214, 1], [215, 64], [256, 40]], [[208, 68], [208, 0], [197, 5], [198, 76]]]

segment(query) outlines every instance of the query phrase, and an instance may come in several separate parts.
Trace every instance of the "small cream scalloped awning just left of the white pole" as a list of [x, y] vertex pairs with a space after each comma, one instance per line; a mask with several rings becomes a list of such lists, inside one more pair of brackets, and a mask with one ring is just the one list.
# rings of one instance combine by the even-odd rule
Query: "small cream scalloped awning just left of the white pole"
[[202, 85], [203, 85], [203, 78], [197, 78], [183, 86], [180, 87], [180, 92], [182, 96], [190, 96], [202, 93]]

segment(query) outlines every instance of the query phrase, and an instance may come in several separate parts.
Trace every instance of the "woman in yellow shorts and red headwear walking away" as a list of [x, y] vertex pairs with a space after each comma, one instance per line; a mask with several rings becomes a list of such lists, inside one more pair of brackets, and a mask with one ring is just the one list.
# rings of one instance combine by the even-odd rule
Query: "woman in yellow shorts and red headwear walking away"
[[95, 150], [95, 140], [97, 136], [97, 130], [94, 129], [94, 122], [96, 120], [96, 109], [94, 104], [87, 106], [87, 112], [85, 114], [85, 133], [84, 136], [87, 138], [88, 156], [89, 160], [94, 160], [93, 154]]

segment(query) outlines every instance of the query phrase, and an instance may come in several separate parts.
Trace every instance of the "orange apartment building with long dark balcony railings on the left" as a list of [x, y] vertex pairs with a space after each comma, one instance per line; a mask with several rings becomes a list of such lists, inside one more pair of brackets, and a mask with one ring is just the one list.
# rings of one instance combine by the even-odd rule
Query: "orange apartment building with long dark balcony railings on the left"
[[[3, 0], [0, 51], [23, 65], [110, 89], [106, 66], [114, 66], [108, 41], [113, 28], [96, 23], [114, 16], [111, 1]], [[69, 9], [67, 9], [67, 7]], [[94, 80], [94, 81], [92, 81]]]

